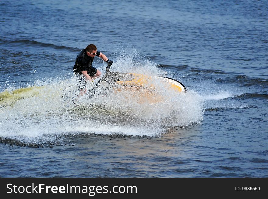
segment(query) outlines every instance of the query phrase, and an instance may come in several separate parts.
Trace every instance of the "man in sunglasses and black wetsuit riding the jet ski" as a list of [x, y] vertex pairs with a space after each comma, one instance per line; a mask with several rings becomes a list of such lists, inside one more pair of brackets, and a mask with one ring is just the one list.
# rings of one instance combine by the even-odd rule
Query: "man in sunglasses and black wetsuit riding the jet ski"
[[108, 64], [108, 68], [113, 64], [112, 60], [109, 60], [104, 54], [97, 51], [97, 47], [94, 44], [90, 44], [81, 50], [76, 57], [73, 67], [73, 74], [77, 77], [81, 95], [87, 92], [86, 81], [94, 83], [93, 79], [101, 76], [101, 72], [92, 66], [95, 56], [103, 59]]

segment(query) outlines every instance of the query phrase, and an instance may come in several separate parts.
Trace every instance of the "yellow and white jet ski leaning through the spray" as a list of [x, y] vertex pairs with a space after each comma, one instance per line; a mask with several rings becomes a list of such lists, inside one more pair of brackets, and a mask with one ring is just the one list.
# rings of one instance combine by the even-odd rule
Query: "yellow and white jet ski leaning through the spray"
[[[105, 97], [111, 93], [125, 92], [127, 93], [125, 98], [135, 99], [137, 103], [155, 104], [164, 100], [161, 93], [157, 92], [157, 84], [160, 84], [162, 89], [171, 90], [178, 94], [184, 94], [187, 91], [181, 82], [169, 77], [110, 72], [109, 68], [106, 68], [106, 73], [98, 80], [97, 84], [88, 85], [90, 88], [87, 89], [87, 97]], [[79, 92], [78, 85], [65, 87], [62, 98], [65, 101], [75, 101], [74, 99], [79, 96]]]

